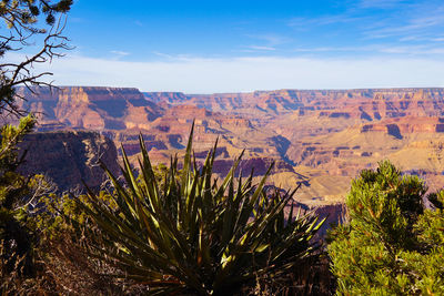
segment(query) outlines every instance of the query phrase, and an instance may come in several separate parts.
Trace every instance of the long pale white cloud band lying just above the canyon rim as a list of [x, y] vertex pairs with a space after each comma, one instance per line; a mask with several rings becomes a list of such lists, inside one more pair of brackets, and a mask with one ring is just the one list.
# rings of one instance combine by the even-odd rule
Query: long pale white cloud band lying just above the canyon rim
[[59, 85], [134, 86], [185, 93], [444, 86], [444, 59], [440, 58], [176, 58], [128, 62], [67, 57], [54, 60], [49, 70]]

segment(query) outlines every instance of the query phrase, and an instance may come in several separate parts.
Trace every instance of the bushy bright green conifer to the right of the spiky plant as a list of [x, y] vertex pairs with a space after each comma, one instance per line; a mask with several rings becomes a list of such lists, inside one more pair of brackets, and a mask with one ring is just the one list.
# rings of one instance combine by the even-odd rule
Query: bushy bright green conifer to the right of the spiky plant
[[346, 198], [350, 223], [330, 233], [339, 295], [443, 295], [444, 192], [390, 162], [363, 171]]

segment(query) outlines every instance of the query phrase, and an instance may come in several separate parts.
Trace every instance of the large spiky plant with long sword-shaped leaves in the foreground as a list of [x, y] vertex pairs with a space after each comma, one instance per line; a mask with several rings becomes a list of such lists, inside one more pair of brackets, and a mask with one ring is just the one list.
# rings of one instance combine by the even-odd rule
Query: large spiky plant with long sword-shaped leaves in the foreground
[[258, 276], [278, 278], [313, 254], [317, 245], [311, 238], [323, 221], [295, 213], [293, 205], [284, 214], [296, 190], [268, 196], [271, 167], [253, 186], [252, 174], [235, 177], [241, 157], [218, 182], [212, 175], [218, 141], [199, 166], [192, 136], [193, 127], [183, 169], [179, 173], [178, 159], [172, 159], [162, 188], [142, 136], [139, 177], [123, 147], [124, 185], [102, 165], [113, 183], [115, 206], [92, 192], [88, 205], [79, 202], [103, 238], [91, 255], [123, 271], [117, 277], [149, 285], [151, 293], [226, 295], [254, 284]]

